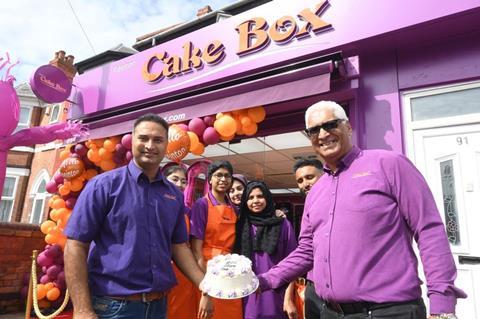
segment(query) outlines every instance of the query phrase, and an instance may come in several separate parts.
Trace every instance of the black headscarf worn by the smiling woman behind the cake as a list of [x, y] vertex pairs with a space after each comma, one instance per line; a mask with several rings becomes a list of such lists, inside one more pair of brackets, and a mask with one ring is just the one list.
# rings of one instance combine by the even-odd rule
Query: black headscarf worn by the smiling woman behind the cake
[[[267, 206], [260, 213], [253, 213], [247, 207], [250, 193], [259, 188]], [[253, 251], [264, 251], [267, 254], [275, 253], [284, 219], [275, 216], [275, 204], [272, 193], [264, 182], [251, 181], [247, 184], [240, 203], [240, 219], [236, 225], [234, 251], [251, 259]], [[257, 226], [256, 235], [253, 236], [250, 226]]]

